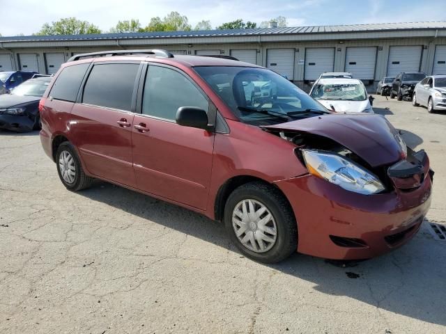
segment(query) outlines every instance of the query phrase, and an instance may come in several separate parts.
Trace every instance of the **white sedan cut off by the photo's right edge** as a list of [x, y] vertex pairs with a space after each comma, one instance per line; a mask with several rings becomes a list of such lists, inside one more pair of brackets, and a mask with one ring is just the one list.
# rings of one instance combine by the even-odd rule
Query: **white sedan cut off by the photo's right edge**
[[416, 84], [412, 104], [426, 106], [429, 113], [446, 110], [446, 75], [432, 75]]

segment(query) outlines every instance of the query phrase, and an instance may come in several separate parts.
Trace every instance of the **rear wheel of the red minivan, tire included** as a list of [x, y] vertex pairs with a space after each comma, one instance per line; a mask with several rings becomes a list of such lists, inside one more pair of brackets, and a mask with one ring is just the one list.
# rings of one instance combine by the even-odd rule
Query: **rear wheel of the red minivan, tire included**
[[59, 178], [66, 189], [79, 191], [89, 188], [93, 177], [84, 173], [81, 161], [74, 146], [68, 141], [61, 143], [56, 152], [56, 166]]

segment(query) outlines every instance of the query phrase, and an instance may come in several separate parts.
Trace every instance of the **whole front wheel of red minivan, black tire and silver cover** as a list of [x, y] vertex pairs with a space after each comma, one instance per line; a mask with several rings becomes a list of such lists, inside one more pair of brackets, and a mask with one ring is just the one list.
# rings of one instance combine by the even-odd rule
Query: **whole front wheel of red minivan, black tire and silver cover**
[[250, 182], [234, 190], [224, 207], [224, 223], [231, 241], [252, 260], [279, 262], [298, 248], [293, 209], [268, 184]]

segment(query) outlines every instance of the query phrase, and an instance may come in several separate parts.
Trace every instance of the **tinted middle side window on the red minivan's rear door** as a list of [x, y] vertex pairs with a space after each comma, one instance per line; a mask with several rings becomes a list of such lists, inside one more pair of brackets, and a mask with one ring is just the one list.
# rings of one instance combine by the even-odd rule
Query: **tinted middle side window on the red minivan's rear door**
[[131, 110], [139, 64], [94, 65], [84, 87], [83, 103]]

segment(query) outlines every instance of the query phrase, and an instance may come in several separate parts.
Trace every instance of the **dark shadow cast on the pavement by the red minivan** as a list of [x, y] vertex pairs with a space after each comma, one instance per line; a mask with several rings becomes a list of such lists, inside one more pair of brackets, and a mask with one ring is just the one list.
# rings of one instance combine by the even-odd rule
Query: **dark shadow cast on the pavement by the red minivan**
[[[222, 223], [190, 210], [102, 182], [78, 194], [238, 253], [226, 237]], [[348, 296], [399, 315], [446, 325], [446, 248], [441, 241], [429, 239], [429, 235], [423, 227], [415, 239], [399, 250], [372, 260], [347, 263], [346, 267], [341, 262], [297, 253], [268, 267], [310, 281], [323, 294]]]

